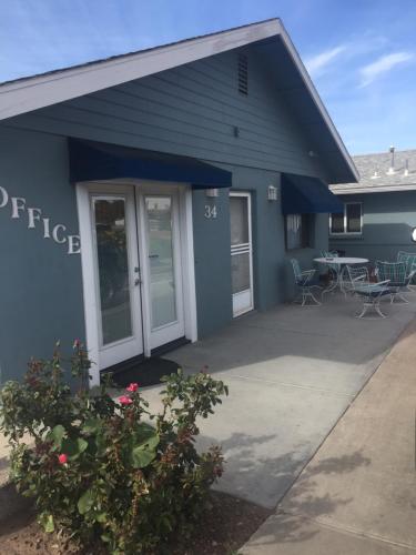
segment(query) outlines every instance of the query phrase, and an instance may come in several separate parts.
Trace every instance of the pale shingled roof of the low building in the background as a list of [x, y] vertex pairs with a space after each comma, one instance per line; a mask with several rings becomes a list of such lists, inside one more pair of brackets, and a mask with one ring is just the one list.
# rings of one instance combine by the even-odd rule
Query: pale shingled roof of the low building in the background
[[[394, 172], [390, 152], [353, 157], [359, 172], [358, 183], [331, 185], [335, 194], [376, 193], [416, 190], [416, 150], [394, 153]], [[407, 171], [406, 171], [407, 170]]]

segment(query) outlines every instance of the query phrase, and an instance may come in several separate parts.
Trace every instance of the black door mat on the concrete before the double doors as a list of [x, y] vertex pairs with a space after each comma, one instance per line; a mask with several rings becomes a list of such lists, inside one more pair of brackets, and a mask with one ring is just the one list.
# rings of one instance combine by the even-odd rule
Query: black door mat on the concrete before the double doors
[[119, 387], [126, 387], [131, 383], [138, 383], [139, 387], [145, 387], [146, 385], [160, 384], [162, 376], [175, 374], [179, 367], [176, 362], [152, 356], [130, 369], [114, 373], [112, 380]]

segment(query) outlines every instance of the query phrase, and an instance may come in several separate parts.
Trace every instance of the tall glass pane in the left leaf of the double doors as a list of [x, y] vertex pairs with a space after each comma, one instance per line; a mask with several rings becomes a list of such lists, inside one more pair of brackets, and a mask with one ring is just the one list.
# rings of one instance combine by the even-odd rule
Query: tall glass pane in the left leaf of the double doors
[[132, 335], [125, 200], [95, 198], [102, 343]]

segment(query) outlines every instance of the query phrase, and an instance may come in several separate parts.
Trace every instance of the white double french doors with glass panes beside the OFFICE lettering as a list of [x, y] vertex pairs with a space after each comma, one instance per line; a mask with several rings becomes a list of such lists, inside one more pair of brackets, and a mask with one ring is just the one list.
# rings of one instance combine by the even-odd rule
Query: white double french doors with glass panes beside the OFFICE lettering
[[183, 272], [193, 269], [184, 189], [103, 183], [80, 185], [78, 196], [88, 347], [98, 370], [185, 334], [196, 339], [193, 274]]

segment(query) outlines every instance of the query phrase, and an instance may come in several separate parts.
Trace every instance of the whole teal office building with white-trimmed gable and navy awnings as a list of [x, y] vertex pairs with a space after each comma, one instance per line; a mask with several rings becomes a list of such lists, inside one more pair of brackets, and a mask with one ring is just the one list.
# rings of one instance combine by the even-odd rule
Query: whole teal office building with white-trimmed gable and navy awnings
[[98, 383], [285, 301], [357, 179], [280, 20], [3, 83], [0, 120], [2, 381], [80, 337]]

